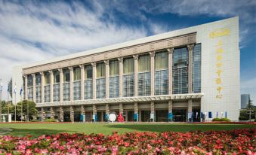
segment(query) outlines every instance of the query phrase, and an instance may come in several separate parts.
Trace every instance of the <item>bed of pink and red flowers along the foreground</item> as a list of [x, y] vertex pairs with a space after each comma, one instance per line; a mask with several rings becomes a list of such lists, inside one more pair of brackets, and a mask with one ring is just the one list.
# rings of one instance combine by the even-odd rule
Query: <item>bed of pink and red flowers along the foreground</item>
[[119, 135], [0, 136], [7, 154], [256, 154], [256, 129], [211, 132], [134, 132]]

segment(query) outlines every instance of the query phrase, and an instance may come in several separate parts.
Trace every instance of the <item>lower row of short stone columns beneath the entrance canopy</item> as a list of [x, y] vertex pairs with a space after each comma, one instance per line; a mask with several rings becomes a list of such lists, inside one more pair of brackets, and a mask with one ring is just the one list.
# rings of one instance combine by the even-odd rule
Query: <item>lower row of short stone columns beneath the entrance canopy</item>
[[[188, 100], [188, 113], [192, 113], [192, 99], [189, 99]], [[168, 100], [168, 113], [172, 115], [172, 100]], [[59, 116], [60, 116], [60, 121], [63, 122], [63, 119], [64, 119], [64, 112], [63, 112], [63, 107], [60, 106], [58, 107], [59, 108]], [[138, 108], [138, 103], [137, 102], [134, 102], [134, 114], [137, 115], [137, 120], [136, 121], [139, 121], [138, 120], [138, 111], [139, 111], [139, 108]], [[42, 112], [42, 121], [45, 120], [45, 109], [42, 108], [41, 109], [41, 112]], [[54, 116], [55, 116], [55, 112], [54, 112], [54, 107], [51, 107], [51, 118], [54, 119]], [[119, 113], [123, 114], [124, 112], [124, 109], [123, 109], [123, 104], [122, 103], [119, 103]], [[93, 115], [96, 115], [97, 114], [97, 106], [96, 105], [92, 105], [92, 113]], [[85, 115], [85, 105], [81, 105], [81, 114], [82, 115]], [[106, 103], [106, 114], [109, 114], [109, 104]], [[153, 116], [155, 115], [155, 103], [154, 102], [150, 102], [150, 114], [153, 114]], [[71, 122], [74, 122], [74, 108], [73, 106], [71, 105], [70, 106], [70, 120]], [[153, 121], [156, 121], [154, 120], [153, 118]]]

